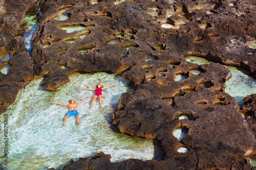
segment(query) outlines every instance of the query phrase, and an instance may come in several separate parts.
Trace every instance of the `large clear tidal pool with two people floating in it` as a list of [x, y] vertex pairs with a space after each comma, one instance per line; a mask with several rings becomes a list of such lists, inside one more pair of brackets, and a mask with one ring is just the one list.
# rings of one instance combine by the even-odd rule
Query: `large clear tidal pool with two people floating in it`
[[[72, 158], [93, 156], [100, 151], [111, 154], [111, 161], [129, 158], [149, 160], [154, 157], [153, 140], [136, 138], [113, 131], [112, 114], [122, 93], [133, 89], [130, 81], [118, 74], [73, 74], [70, 82], [55, 91], [41, 88], [42, 78], [32, 80], [18, 95], [7, 111], [0, 115], [0, 142], [4, 139], [4, 114], [8, 114], [9, 166], [8, 169], [62, 169]], [[92, 97], [78, 105], [79, 123], [71, 116], [61, 128], [68, 112], [67, 106], [52, 102], [76, 102], [94, 91], [102, 83], [102, 108], [98, 100], [89, 110]], [[3, 145], [1, 145], [3, 147]], [[3, 150], [3, 148], [0, 148]], [[1, 155], [2, 156], [2, 155]]]

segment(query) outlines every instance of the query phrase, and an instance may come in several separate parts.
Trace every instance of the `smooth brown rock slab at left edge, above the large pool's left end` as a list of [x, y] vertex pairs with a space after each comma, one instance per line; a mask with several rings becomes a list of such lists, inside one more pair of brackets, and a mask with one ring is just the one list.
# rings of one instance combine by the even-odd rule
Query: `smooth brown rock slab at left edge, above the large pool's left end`
[[6, 61], [10, 65], [9, 73], [4, 75], [0, 72], [0, 112], [15, 101], [18, 92], [33, 78], [33, 65], [22, 37], [15, 39], [12, 53], [14, 57]]

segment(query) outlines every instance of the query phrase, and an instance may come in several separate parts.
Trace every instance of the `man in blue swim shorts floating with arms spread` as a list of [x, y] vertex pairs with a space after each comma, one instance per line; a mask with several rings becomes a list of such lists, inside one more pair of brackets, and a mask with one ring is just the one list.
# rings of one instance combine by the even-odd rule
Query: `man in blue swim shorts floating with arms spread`
[[65, 103], [57, 103], [57, 102], [53, 102], [52, 104], [58, 104], [58, 105], [63, 105], [63, 106], [68, 106], [69, 108], [69, 112], [66, 114], [66, 117], [64, 119], [64, 122], [63, 122], [63, 127], [65, 127], [65, 123], [67, 121], [67, 119], [70, 117], [70, 116], [76, 116], [76, 122], [77, 122], [77, 126], [80, 125], [79, 124], [79, 114], [77, 112], [77, 105], [79, 105], [80, 103], [86, 101], [88, 98], [91, 98], [91, 96], [88, 96], [86, 99], [83, 99], [81, 100], [80, 102], [76, 102], [72, 99], [70, 100], [70, 104], [65, 104]]

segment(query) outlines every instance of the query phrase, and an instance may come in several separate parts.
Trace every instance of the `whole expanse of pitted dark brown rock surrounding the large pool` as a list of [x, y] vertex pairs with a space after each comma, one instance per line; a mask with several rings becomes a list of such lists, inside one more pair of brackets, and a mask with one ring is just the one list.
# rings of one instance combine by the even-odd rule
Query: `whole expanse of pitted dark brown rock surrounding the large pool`
[[[245, 122], [236, 99], [224, 91], [231, 74], [221, 64], [255, 77], [254, 1], [40, 1], [31, 60], [22, 37], [14, 37], [37, 3], [15, 8], [20, 15], [11, 30], [4, 24], [11, 16], [0, 17], [1, 35], [7, 35], [1, 54], [14, 54], [1, 62], [11, 67], [0, 73], [0, 112], [37, 76], [44, 76], [42, 88], [55, 90], [74, 72], [123, 71], [135, 90], [122, 94], [113, 124], [122, 133], [157, 139], [163, 148], [160, 161], [111, 163], [110, 155], [99, 153], [64, 169], [252, 168], [246, 156], [256, 152], [255, 96], [244, 99]], [[184, 58], [191, 55], [221, 64], [193, 64]], [[191, 72], [196, 69], [201, 74]], [[175, 128], [186, 128], [187, 136], [178, 141]]]

